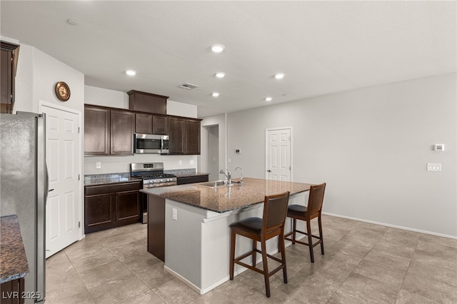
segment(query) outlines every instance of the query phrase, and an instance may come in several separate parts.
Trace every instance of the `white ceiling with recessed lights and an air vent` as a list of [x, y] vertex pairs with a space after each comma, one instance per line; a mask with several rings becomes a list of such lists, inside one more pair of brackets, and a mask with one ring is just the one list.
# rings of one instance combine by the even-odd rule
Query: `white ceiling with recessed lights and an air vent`
[[456, 1], [1, 0], [0, 34], [88, 86], [170, 96], [205, 117], [456, 72], [456, 11]]

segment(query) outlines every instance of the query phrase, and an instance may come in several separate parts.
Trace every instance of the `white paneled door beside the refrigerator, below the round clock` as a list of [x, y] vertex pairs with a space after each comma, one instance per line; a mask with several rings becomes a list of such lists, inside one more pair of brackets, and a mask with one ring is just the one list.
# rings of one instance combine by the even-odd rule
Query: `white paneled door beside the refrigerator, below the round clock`
[[79, 115], [49, 106], [46, 113], [46, 161], [49, 192], [46, 203], [46, 258], [79, 240]]

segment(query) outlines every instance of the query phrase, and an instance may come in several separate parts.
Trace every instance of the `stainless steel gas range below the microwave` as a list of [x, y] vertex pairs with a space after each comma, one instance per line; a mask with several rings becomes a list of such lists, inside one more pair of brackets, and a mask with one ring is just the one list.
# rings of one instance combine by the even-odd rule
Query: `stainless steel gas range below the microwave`
[[176, 185], [176, 176], [164, 173], [164, 163], [131, 163], [130, 175], [141, 178], [144, 189]]

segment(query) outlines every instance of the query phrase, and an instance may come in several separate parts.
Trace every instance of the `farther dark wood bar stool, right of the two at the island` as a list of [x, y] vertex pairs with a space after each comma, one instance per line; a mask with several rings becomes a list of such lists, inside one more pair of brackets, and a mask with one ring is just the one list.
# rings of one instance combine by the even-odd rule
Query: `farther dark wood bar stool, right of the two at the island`
[[[308, 245], [309, 255], [311, 255], [311, 263], [314, 263], [314, 246], [321, 244], [321, 253], [323, 254], [323, 237], [322, 237], [322, 221], [321, 211], [323, 203], [323, 194], [326, 191], [326, 183], [321, 185], [311, 186], [309, 190], [308, 206], [291, 205], [287, 208], [287, 217], [293, 218], [292, 231], [284, 235], [284, 239], [291, 240], [292, 244], [299, 243]], [[311, 220], [318, 218], [319, 236], [312, 235], [311, 233]], [[297, 220], [306, 221], [306, 232], [297, 230]], [[308, 243], [296, 240], [296, 233], [301, 233], [308, 236]], [[292, 238], [289, 236], [292, 235]], [[313, 238], [318, 239], [316, 243], [313, 243]]]

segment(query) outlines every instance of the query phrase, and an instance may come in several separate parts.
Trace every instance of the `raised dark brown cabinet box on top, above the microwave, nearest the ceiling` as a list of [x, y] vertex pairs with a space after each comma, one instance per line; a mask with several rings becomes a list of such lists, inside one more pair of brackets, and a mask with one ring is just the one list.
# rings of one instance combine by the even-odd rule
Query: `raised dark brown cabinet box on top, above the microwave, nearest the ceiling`
[[131, 90], [129, 94], [129, 109], [147, 113], [166, 115], [166, 100], [168, 96]]

